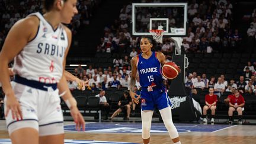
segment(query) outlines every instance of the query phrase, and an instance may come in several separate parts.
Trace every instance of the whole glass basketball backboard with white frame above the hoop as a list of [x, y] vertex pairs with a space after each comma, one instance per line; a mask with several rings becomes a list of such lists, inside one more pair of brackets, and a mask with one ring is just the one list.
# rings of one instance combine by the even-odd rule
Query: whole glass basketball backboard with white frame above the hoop
[[133, 3], [133, 35], [152, 35], [149, 33], [152, 29], [164, 30], [166, 36], [185, 36], [187, 3]]

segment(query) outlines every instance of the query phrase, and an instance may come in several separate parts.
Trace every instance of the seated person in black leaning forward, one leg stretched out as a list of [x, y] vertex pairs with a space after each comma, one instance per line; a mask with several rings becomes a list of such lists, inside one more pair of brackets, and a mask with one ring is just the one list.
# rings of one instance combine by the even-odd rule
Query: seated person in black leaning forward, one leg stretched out
[[117, 114], [121, 113], [121, 111], [126, 111], [127, 117], [124, 117], [124, 120], [130, 120], [130, 107], [132, 105], [132, 98], [129, 96], [128, 92], [123, 92], [123, 96], [119, 99], [119, 108], [112, 114], [110, 120], [113, 120]]

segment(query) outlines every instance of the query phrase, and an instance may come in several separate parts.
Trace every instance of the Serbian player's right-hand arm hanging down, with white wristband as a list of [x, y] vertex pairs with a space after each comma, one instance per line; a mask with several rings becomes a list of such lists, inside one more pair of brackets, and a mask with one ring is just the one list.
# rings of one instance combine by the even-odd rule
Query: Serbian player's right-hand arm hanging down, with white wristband
[[82, 117], [82, 114], [79, 112], [77, 103], [75, 98], [73, 98], [71, 91], [68, 88], [68, 84], [66, 82], [65, 78], [65, 66], [66, 66], [66, 56], [68, 55], [69, 47], [71, 46], [71, 39], [72, 39], [72, 33], [69, 28], [65, 27], [65, 31], [68, 36], [68, 47], [65, 51], [65, 57], [63, 60], [63, 74], [62, 78], [60, 79], [59, 83], [57, 84], [57, 88], [59, 89], [60, 94], [63, 94], [62, 99], [65, 101], [66, 105], [68, 105], [69, 110], [71, 110], [71, 116], [73, 117], [73, 120], [76, 123], [76, 130], [80, 130], [82, 127], [82, 130], [85, 130], [85, 121], [84, 117]]

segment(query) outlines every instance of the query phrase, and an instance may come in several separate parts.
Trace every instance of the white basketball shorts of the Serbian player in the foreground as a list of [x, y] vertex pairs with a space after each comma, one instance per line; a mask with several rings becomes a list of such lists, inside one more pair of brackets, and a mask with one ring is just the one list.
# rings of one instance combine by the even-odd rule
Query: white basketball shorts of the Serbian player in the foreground
[[15, 130], [25, 127], [36, 129], [39, 136], [64, 133], [58, 89], [53, 90], [52, 87], [48, 87], [45, 91], [14, 81], [11, 82], [11, 85], [15, 97], [20, 103], [23, 120], [12, 119], [11, 110], [9, 111], [8, 116], [5, 117], [9, 135]]

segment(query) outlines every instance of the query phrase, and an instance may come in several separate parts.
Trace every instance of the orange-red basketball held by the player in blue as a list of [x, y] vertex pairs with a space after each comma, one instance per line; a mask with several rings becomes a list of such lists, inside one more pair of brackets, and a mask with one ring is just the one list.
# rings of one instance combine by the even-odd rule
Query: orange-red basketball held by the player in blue
[[178, 76], [180, 68], [174, 62], [167, 62], [162, 67], [162, 75], [167, 79], [174, 79]]

